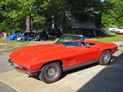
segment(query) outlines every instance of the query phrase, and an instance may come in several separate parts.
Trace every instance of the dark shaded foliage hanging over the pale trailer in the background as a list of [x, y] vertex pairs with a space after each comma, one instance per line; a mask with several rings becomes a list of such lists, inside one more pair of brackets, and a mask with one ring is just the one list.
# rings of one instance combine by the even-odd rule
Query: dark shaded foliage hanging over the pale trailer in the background
[[81, 22], [93, 21], [94, 12], [103, 10], [103, 3], [100, 0], [68, 0], [71, 6], [71, 13]]

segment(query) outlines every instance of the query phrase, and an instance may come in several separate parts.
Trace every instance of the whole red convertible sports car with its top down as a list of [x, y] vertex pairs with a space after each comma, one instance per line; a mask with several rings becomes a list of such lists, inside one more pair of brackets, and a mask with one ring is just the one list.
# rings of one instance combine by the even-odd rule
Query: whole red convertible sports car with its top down
[[9, 63], [29, 75], [39, 75], [45, 83], [57, 81], [63, 71], [95, 62], [110, 63], [117, 45], [86, 41], [83, 35], [63, 35], [55, 44], [18, 49], [9, 55]]

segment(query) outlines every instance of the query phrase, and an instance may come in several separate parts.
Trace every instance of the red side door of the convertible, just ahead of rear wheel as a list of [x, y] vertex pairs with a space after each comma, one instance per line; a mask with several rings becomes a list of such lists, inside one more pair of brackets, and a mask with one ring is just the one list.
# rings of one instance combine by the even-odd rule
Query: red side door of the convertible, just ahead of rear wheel
[[80, 46], [78, 64], [99, 59], [99, 50], [97, 45]]

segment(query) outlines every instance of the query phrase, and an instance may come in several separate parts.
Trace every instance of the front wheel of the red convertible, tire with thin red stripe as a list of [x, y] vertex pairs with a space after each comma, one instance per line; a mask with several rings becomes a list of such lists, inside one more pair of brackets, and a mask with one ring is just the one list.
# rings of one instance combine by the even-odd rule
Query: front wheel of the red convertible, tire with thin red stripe
[[62, 67], [59, 62], [46, 64], [39, 74], [39, 79], [45, 83], [57, 81], [62, 73]]

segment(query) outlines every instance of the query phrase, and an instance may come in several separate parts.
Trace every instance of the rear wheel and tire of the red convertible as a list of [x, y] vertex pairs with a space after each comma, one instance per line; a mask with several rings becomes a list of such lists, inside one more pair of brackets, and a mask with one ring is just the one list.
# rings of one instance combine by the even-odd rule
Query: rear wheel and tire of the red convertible
[[101, 65], [107, 65], [110, 63], [110, 60], [111, 60], [111, 52], [109, 50], [103, 51], [100, 56], [99, 63]]

